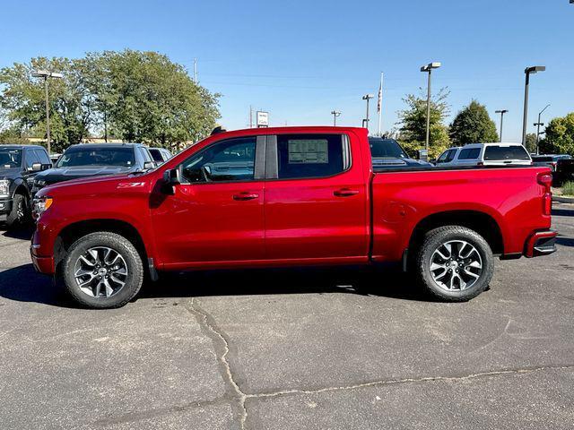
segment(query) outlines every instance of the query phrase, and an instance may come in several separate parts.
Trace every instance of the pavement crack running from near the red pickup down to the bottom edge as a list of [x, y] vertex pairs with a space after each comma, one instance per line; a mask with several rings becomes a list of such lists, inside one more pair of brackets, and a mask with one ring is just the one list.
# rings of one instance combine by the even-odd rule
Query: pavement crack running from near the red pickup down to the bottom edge
[[[248, 417], [248, 410], [245, 407], [245, 400], [248, 398], [248, 396], [243, 391], [241, 391], [237, 381], [235, 380], [235, 377], [233, 376], [233, 372], [231, 372], [230, 363], [227, 359], [228, 354], [230, 353], [229, 341], [227, 340], [225, 334], [218, 329], [217, 325], [213, 321], [213, 317], [206, 313], [197, 304], [195, 297], [192, 297], [190, 305], [186, 307], [189, 312], [196, 315], [197, 321], [200, 323], [202, 328], [204, 328], [207, 333], [212, 333], [210, 338], [213, 340], [217, 359], [223, 368], [223, 379], [228, 384], [228, 386], [230, 386], [232, 391], [231, 394], [233, 397], [238, 400], [240, 409], [239, 425], [241, 429], [245, 429], [245, 422]], [[220, 353], [218, 353], [218, 350]]]

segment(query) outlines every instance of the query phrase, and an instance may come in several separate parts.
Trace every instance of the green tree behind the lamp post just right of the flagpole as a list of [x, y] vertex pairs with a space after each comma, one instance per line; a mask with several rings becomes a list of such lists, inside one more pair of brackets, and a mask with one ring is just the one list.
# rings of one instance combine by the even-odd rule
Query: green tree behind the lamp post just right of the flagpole
[[[448, 90], [441, 89], [431, 99], [431, 127], [429, 158], [436, 158], [450, 146], [448, 128], [444, 120], [448, 116]], [[399, 141], [412, 157], [426, 141], [427, 99], [425, 96], [408, 94], [404, 99], [406, 108], [398, 112], [400, 130]]]

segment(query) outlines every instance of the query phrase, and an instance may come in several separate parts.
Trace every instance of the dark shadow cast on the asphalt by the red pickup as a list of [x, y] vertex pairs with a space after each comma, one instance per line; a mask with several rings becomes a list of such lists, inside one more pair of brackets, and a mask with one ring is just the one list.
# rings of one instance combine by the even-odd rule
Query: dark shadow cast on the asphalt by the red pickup
[[[286, 294], [357, 294], [429, 301], [403, 273], [361, 273], [340, 268], [163, 273], [147, 282], [140, 298], [186, 298]], [[0, 297], [18, 302], [80, 308], [60, 282], [34, 271], [31, 264], [0, 271]]]

